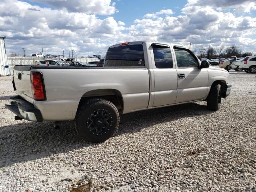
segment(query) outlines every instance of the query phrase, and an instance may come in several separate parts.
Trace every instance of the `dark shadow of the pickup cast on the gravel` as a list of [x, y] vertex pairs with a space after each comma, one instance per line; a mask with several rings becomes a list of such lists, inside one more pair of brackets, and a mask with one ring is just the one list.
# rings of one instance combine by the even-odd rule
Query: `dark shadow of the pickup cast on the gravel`
[[[121, 116], [119, 129], [114, 137], [140, 132], [155, 124], [211, 112], [206, 109], [206, 105], [189, 103], [126, 114]], [[95, 145], [98, 144], [88, 143], [80, 138], [72, 122], [63, 122], [61, 128], [56, 130], [52, 122], [22, 120], [18, 124], [0, 127], [0, 168]]]

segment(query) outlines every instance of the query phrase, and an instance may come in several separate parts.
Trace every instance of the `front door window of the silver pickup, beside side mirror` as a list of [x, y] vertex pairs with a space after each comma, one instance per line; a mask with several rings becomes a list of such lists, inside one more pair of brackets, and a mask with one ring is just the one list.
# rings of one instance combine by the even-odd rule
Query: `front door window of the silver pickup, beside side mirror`
[[198, 61], [190, 52], [174, 48], [178, 68], [198, 68]]

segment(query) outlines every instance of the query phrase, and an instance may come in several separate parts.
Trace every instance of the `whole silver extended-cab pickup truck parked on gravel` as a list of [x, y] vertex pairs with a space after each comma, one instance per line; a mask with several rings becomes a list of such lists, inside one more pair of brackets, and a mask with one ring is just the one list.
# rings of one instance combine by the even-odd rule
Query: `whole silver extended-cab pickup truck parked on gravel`
[[89, 142], [110, 138], [120, 114], [204, 100], [216, 111], [231, 90], [226, 70], [158, 42], [111, 46], [103, 67], [15, 66], [13, 85], [17, 120], [73, 121]]

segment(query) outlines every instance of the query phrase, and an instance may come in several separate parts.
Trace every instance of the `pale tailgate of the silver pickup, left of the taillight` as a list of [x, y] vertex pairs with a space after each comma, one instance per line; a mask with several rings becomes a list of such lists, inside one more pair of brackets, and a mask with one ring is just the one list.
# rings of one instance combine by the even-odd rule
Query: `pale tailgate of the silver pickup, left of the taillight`
[[14, 66], [14, 83], [16, 92], [28, 102], [33, 103], [34, 99], [30, 84], [31, 67], [25, 65]]

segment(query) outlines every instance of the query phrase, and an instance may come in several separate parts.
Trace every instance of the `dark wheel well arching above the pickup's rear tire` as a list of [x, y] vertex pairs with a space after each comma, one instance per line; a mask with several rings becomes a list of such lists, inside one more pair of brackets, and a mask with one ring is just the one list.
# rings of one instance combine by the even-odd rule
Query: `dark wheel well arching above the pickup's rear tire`
[[122, 94], [116, 90], [116, 89], [98, 89], [98, 90], [92, 90], [89, 92], [86, 92], [83, 94], [82, 98], [80, 99], [79, 106], [81, 103], [83, 103], [85, 100], [91, 99], [91, 98], [103, 98], [110, 102], [112, 102], [119, 112], [122, 113], [124, 108], [124, 102]]

